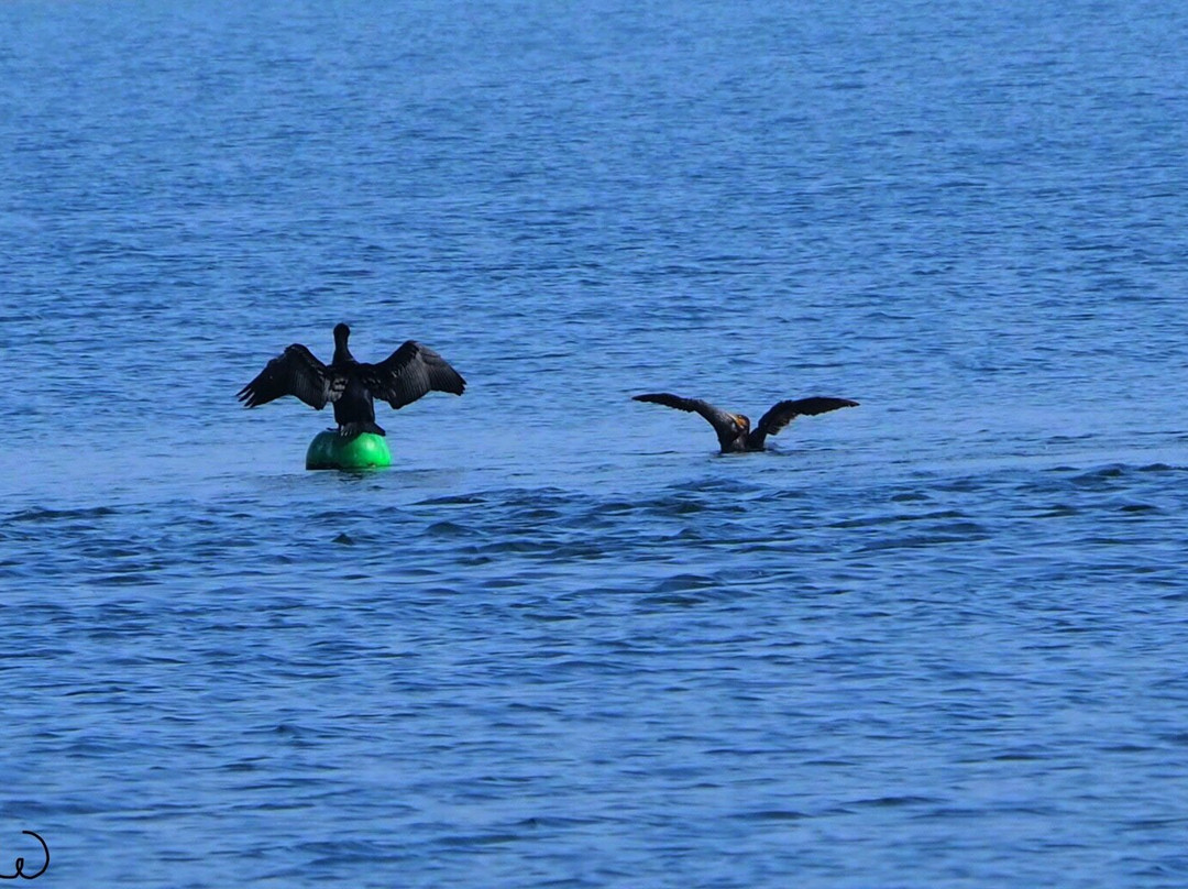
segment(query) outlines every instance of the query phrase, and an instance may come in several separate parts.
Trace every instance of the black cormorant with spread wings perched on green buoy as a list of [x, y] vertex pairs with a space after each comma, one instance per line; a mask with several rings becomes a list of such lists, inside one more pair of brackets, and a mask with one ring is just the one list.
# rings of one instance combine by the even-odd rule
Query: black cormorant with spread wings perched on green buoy
[[426, 392], [462, 395], [466, 380], [444, 358], [428, 346], [409, 340], [379, 364], [356, 361], [347, 348], [350, 328], [334, 328], [334, 360], [324, 365], [314, 353], [295, 342], [268, 361], [260, 374], [239, 390], [245, 408], [293, 395], [310, 408], [334, 404], [339, 435], [385, 435], [375, 423], [373, 398], [399, 410]]

